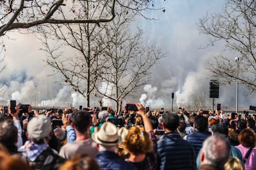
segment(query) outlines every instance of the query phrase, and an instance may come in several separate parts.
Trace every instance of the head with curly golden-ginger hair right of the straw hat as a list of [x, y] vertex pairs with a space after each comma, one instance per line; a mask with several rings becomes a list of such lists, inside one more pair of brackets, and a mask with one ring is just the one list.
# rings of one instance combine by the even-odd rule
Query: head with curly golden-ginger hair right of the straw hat
[[134, 155], [139, 155], [152, 150], [152, 142], [150, 136], [145, 131], [144, 127], [130, 127], [126, 138], [122, 142], [122, 146], [127, 152]]

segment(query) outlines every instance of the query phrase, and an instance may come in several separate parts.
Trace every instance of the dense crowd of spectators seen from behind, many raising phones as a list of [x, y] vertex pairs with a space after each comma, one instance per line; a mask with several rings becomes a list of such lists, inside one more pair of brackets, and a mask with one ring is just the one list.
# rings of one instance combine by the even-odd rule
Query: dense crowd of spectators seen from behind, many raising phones
[[0, 169], [256, 169], [254, 116], [99, 103], [45, 113], [2, 107]]

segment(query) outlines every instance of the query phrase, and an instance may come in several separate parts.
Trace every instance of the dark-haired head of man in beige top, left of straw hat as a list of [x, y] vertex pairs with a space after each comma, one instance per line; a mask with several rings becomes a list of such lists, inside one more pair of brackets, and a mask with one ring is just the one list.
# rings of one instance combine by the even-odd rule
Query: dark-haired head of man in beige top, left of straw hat
[[87, 132], [90, 126], [91, 115], [88, 111], [79, 110], [73, 113], [72, 123], [77, 131], [80, 133]]

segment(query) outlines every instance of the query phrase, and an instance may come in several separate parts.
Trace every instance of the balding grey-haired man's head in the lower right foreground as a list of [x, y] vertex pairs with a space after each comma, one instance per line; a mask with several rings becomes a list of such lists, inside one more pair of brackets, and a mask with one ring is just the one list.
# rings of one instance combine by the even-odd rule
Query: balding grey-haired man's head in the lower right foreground
[[210, 136], [203, 142], [200, 163], [202, 165], [211, 164], [223, 169], [224, 164], [230, 156], [230, 150], [231, 146], [226, 137], [219, 134]]

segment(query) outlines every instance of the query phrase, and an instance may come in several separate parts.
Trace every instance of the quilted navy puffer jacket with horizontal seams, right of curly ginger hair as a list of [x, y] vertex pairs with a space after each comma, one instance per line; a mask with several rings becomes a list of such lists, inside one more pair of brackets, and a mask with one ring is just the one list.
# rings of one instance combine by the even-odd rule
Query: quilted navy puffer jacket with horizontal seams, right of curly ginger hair
[[195, 153], [192, 145], [179, 133], [169, 132], [158, 137], [159, 169], [195, 169]]

